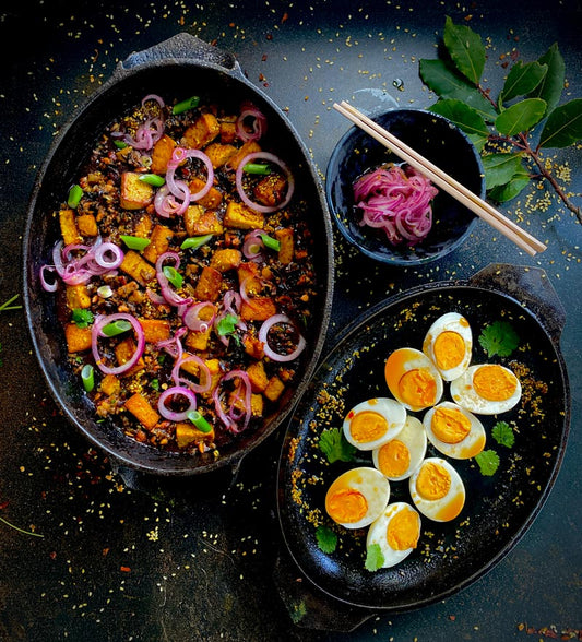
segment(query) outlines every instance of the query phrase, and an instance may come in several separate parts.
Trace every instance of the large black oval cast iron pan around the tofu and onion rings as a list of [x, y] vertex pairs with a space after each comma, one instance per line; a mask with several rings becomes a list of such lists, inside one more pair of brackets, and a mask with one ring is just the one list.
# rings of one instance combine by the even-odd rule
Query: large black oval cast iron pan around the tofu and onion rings
[[[285, 150], [285, 159], [296, 174], [301, 198], [311, 203], [309, 224], [321, 249], [316, 255], [320, 306], [307, 337], [308, 348], [300, 366], [302, 378], [275, 415], [265, 419], [259, 430], [242, 435], [238, 441], [222, 449], [217, 460], [162, 453], [124, 437], [112, 424], [97, 424], [91, 403], [67, 366], [55, 298], [43, 292], [38, 281], [40, 266], [50, 263], [51, 248], [59, 238], [58, 223], [51, 213], [87, 162], [96, 136], [145, 95], [158, 94], [166, 100], [179, 100], [188, 97], [182, 95], [183, 92], [233, 108], [238, 108], [244, 100], [251, 100], [263, 111], [269, 121], [269, 140], [275, 141], [277, 148]], [[245, 79], [234, 56], [186, 33], [132, 54], [60, 133], [38, 174], [28, 207], [24, 239], [25, 309], [34, 348], [54, 397], [66, 416], [119, 465], [159, 475], [192, 475], [227, 464], [236, 467], [250, 449], [281, 425], [314, 370], [331, 310], [331, 238], [324, 193], [301, 140], [274, 103]]]

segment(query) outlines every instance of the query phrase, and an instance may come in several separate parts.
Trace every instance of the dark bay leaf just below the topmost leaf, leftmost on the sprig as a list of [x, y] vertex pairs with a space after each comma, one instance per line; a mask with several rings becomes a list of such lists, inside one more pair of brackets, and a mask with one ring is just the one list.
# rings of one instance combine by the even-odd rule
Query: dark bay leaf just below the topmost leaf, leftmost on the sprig
[[419, 73], [427, 87], [441, 98], [463, 100], [488, 122], [497, 118], [497, 111], [491, 103], [446, 61], [423, 59], [419, 63]]

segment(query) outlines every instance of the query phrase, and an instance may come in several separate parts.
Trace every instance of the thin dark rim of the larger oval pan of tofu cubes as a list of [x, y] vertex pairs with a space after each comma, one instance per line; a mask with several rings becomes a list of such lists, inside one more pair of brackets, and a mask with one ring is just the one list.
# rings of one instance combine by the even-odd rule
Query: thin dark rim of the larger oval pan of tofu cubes
[[[178, 34], [174, 38], [167, 40], [167, 43], [171, 43], [175, 40], [176, 43], [181, 43], [187, 46], [195, 46], [195, 43], [202, 43], [198, 38], [190, 36], [189, 34]], [[207, 45], [203, 43], [204, 45]], [[162, 43], [165, 45], [165, 43]], [[210, 45], [207, 45], [210, 47]], [[29, 295], [29, 280], [34, 278], [34, 275], [31, 274], [31, 263], [32, 259], [28, 252], [31, 247], [31, 236], [33, 235], [33, 219], [37, 207], [37, 200], [38, 194], [41, 189], [43, 180], [47, 174], [48, 168], [50, 167], [51, 163], [54, 162], [55, 156], [57, 155], [62, 141], [66, 139], [67, 134], [70, 132], [72, 127], [76, 123], [76, 121], [87, 111], [92, 109], [96, 109], [98, 106], [98, 102], [102, 99], [107, 92], [111, 88], [116, 87], [116, 85], [123, 84], [128, 82], [134, 75], [143, 75], [152, 70], [157, 71], [159, 68], [165, 67], [188, 67], [192, 70], [200, 69], [200, 68], [207, 68], [215, 71], [217, 74], [227, 75], [231, 80], [240, 83], [247, 90], [250, 91], [251, 94], [256, 94], [258, 98], [269, 105], [269, 107], [273, 110], [275, 116], [278, 118], [280, 124], [283, 129], [286, 129], [288, 133], [292, 135], [294, 143], [297, 145], [298, 157], [304, 165], [306, 173], [309, 174], [309, 178], [312, 181], [314, 192], [319, 198], [321, 217], [323, 228], [322, 230], [325, 233], [325, 253], [328, 257], [326, 261], [326, 273], [320, 274], [320, 280], [323, 285], [321, 288], [321, 295], [323, 300], [321, 301], [321, 317], [319, 320], [319, 329], [316, 334], [317, 341], [314, 341], [312, 346], [312, 354], [309, 361], [306, 365], [304, 377], [297, 384], [295, 389], [294, 395], [288, 403], [286, 408], [281, 411], [281, 414], [277, 417], [274, 417], [271, 421], [271, 425], [268, 429], [263, 430], [260, 435], [258, 435], [250, 444], [246, 444], [244, 448], [236, 450], [229, 454], [221, 456], [216, 461], [207, 462], [203, 465], [198, 465], [194, 467], [190, 467], [188, 465], [189, 459], [186, 459], [183, 455], [180, 454], [173, 454], [173, 453], [163, 453], [159, 455], [159, 460], [164, 461], [164, 466], [161, 468], [158, 464], [155, 462], [155, 453], [151, 447], [144, 445], [144, 453], [149, 453], [150, 455], [154, 455], [154, 457], [146, 457], [146, 461], [136, 461], [134, 457], [129, 456], [123, 452], [119, 452], [114, 447], [109, 447], [107, 442], [99, 439], [98, 436], [93, 435], [84, 425], [81, 423], [73, 414], [70, 407], [70, 403], [64, 396], [58, 391], [55, 382], [52, 381], [51, 377], [49, 376], [48, 367], [45, 362], [45, 357], [41, 353], [39, 342], [36, 336], [35, 326], [34, 326], [34, 319], [33, 319], [33, 302], [31, 300]], [[219, 79], [221, 80], [221, 79]], [[31, 193], [31, 198], [28, 201], [27, 206], [27, 215], [26, 215], [26, 224], [25, 224], [25, 231], [23, 237], [23, 300], [24, 300], [24, 311], [26, 317], [26, 325], [28, 329], [29, 336], [33, 342], [34, 352], [37, 357], [37, 361], [40, 366], [43, 376], [48, 384], [48, 389], [50, 394], [57, 405], [61, 408], [63, 414], [66, 415], [67, 419], [75, 426], [92, 443], [98, 447], [102, 451], [107, 453], [116, 463], [119, 465], [128, 466], [131, 469], [143, 472], [143, 473], [153, 473], [161, 476], [194, 476], [205, 473], [212, 473], [218, 468], [224, 468], [226, 466], [231, 466], [234, 471], [240, 465], [241, 460], [254, 448], [257, 448], [260, 443], [262, 443], [265, 439], [271, 437], [273, 432], [280, 428], [281, 424], [285, 420], [287, 415], [292, 412], [294, 406], [294, 399], [299, 399], [302, 396], [304, 392], [307, 390], [308, 383], [313, 376], [316, 367], [318, 365], [319, 358], [321, 356], [321, 352], [324, 345], [325, 335], [328, 332], [330, 319], [331, 319], [331, 308], [333, 301], [333, 284], [334, 284], [334, 249], [332, 243], [332, 224], [331, 224], [331, 216], [328, 207], [328, 203], [324, 195], [324, 190], [321, 183], [321, 180], [313, 167], [313, 164], [310, 159], [308, 150], [300, 139], [299, 134], [297, 133], [295, 127], [292, 122], [285, 117], [284, 112], [281, 108], [269, 97], [264, 94], [259, 87], [254, 86], [250, 81], [248, 81], [238, 63], [233, 66], [233, 69], [226, 69], [221, 64], [214, 63], [209, 60], [199, 60], [197, 58], [188, 58], [185, 56], [171, 56], [168, 55], [164, 58], [157, 58], [152, 60], [140, 61], [134, 67], [124, 68], [122, 63], [120, 63], [117, 69], [112, 72], [111, 76], [109, 76], [103, 85], [100, 85], [91, 96], [88, 96], [84, 103], [82, 103], [63, 126], [59, 134], [52, 141], [49, 151], [45, 157], [45, 160], [36, 175], [36, 179], [33, 186], [33, 191]], [[152, 461], [154, 460], [154, 461]], [[173, 462], [173, 466], [168, 467], [167, 463]]]

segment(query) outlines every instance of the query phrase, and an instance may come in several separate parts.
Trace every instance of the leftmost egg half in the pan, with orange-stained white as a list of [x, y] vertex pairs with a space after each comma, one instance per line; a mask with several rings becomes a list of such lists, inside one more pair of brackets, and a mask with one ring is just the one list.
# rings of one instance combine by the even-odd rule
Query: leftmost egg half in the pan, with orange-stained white
[[333, 482], [325, 495], [330, 518], [346, 528], [369, 526], [385, 509], [390, 483], [371, 466], [346, 471]]

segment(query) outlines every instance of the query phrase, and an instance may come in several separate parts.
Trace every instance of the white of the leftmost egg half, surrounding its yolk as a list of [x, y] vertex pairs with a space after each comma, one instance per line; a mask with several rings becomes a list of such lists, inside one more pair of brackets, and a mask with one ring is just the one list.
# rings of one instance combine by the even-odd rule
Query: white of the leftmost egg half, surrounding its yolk
[[332, 483], [325, 495], [325, 510], [328, 510], [328, 500], [332, 494], [345, 489], [359, 491], [368, 504], [366, 514], [357, 522], [341, 522], [330, 515], [332, 520], [345, 528], [369, 526], [382, 513], [390, 499], [390, 483], [382, 473], [371, 466], [360, 466], [346, 471]]

